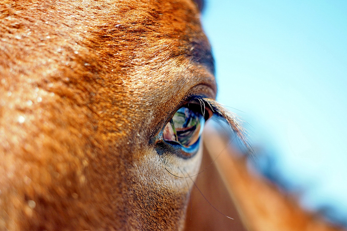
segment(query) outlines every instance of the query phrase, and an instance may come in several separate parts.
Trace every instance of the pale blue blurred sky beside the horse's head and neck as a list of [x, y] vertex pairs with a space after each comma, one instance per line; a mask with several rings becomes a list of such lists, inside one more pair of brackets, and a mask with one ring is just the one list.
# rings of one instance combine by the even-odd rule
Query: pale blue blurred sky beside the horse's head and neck
[[202, 21], [257, 167], [347, 226], [347, 1], [206, 0]]

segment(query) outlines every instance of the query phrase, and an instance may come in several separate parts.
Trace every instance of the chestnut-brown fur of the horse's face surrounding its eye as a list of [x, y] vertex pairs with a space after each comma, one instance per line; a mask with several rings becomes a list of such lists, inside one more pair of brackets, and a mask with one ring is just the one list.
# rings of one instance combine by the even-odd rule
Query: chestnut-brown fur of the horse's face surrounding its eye
[[191, 183], [149, 141], [215, 95], [194, 3], [0, 4], [0, 230], [180, 230]]

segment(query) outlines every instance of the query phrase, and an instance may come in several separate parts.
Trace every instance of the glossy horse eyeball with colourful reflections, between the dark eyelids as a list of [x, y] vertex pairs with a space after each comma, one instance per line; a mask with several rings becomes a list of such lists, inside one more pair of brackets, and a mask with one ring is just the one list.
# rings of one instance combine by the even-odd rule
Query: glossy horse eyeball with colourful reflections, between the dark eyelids
[[177, 142], [188, 148], [199, 139], [204, 124], [205, 118], [201, 113], [181, 107], [165, 126], [163, 139]]

